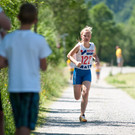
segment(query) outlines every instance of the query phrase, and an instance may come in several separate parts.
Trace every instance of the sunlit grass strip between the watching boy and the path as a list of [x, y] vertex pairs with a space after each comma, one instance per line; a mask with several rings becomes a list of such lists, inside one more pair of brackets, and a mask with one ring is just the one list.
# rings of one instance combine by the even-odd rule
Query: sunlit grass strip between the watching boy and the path
[[50, 104], [60, 97], [68, 86], [68, 72], [65, 72], [65, 70], [67, 70], [65, 67], [59, 66], [55, 68], [55, 71], [54, 68], [48, 67], [46, 74], [41, 72], [42, 92], [40, 93], [37, 128], [45, 123], [46, 113], [49, 111], [48, 107]]

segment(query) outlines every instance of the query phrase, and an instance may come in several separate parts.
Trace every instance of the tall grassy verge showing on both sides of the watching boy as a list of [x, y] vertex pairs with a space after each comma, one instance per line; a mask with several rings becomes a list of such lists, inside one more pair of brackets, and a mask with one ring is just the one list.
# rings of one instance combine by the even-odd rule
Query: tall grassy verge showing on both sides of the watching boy
[[[2, 106], [4, 109], [5, 134], [13, 135], [15, 131], [12, 109], [9, 101], [9, 93], [7, 92], [8, 75], [7, 68], [0, 71], [0, 89], [2, 95]], [[42, 109], [46, 102], [59, 97], [63, 89], [67, 86], [67, 77], [64, 75], [64, 67], [48, 66], [46, 72], [41, 72], [41, 93], [40, 93], [40, 116], [38, 124], [43, 121], [41, 118]]]

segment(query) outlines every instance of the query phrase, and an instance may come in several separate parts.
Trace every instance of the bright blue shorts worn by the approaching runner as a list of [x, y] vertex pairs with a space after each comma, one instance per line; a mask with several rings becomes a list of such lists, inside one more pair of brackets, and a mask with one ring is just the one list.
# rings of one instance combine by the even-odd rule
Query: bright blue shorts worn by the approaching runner
[[75, 68], [73, 72], [73, 85], [82, 84], [84, 81], [91, 82], [91, 70]]

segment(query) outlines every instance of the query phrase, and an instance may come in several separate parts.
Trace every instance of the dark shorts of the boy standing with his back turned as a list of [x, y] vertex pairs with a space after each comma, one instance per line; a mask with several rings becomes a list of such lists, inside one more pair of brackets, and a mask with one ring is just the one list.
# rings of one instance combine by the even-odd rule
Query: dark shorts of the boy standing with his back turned
[[39, 93], [10, 93], [16, 128], [35, 129], [39, 109]]

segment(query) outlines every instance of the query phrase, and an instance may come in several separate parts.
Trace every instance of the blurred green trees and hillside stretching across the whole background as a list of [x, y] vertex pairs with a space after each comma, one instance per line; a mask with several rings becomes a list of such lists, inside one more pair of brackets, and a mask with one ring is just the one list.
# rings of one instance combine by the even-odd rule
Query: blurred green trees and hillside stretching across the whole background
[[116, 14], [124, 7], [126, 11], [134, 0], [103, 0], [103, 3], [96, 3], [97, 0], [94, 0], [94, 5], [91, 0], [2, 0], [0, 5], [12, 22], [11, 31], [18, 28], [17, 12], [19, 6], [26, 1], [38, 8], [39, 22], [33, 30], [45, 36], [50, 44], [53, 54], [48, 61], [52, 64], [57, 65], [62, 59], [66, 59], [66, 54], [80, 39], [81, 29], [89, 25], [93, 27], [91, 42], [95, 43], [101, 61], [110, 63], [113, 60], [116, 64], [115, 46], [119, 45], [123, 51], [124, 65], [135, 65], [133, 6], [126, 23], [116, 22]]

